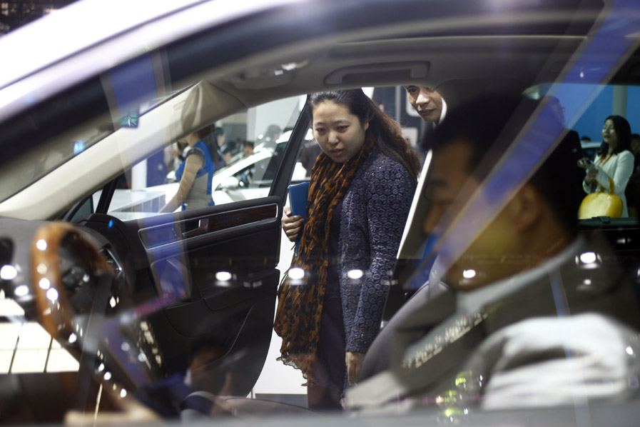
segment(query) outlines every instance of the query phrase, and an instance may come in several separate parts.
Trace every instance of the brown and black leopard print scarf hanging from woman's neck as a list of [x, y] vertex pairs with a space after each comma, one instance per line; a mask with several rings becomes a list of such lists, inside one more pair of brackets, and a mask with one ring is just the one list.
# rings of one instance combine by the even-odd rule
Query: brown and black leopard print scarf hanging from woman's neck
[[335, 206], [347, 194], [357, 169], [373, 149], [375, 141], [372, 138], [365, 141], [360, 152], [343, 164], [332, 161], [324, 153], [315, 162], [300, 249], [291, 263], [291, 268], [302, 268], [305, 276], [299, 281], [285, 278], [278, 291], [278, 311], [273, 326], [283, 338], [282, 356], [278, 360], [302, 371], [307, 379], [303, 386], [312, 384], [311, 371], [320, 336], [331, 217]]

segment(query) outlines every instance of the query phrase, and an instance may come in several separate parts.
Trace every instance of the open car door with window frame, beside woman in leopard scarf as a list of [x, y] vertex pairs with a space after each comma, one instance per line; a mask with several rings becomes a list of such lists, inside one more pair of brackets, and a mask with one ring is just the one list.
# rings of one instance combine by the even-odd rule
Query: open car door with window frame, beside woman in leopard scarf
[[[194, 352], [207, 348], [199, 375], [211, 377], [208, 391], [225, 386], [226, 394], [246, 396], [253, 388], [273, 328], [283, 203], [307, 130], [301, 114], [268, 158], [269, 186], [255, 199], [151, 214], [158, 206], [148, 198], [157, 186], [147, 189], [146, 204], [116, 206], [118, 191], [133, 191], [118, 188], [123, 177], [93, 196], [94, 212], [76, 224], [106, 241], [103, 253], [126, 276], [102, 331], [103, 357], [123, 385], [153, 387], [186, 371], [193, 376]], [[264, 188], [265, 181], [256, 185]]]

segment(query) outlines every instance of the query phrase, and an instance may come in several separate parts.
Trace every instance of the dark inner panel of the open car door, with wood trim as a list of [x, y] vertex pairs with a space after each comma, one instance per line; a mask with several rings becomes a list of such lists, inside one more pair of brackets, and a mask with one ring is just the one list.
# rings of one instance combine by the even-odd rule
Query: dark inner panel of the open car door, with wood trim
[[140, 371], [118, 354], [120, 346], [107, 346], [105, 354], [128, 376], [127, 383], [151, 386], [186, 371], [194, 346], [208, 341], [220, 346], [216, 369], [223, 366], [233, 378], [227, 391], [249, 393], [273, 327], [282, 206], [280, 197], [270, 196], [123, 223], [99, 214], [81, 221], [109, 241], [128, 241], [126, 250], [113, 243], [119, 258], [137, 260], [136, 295], [130, 298], [136, 308], [118, 312], [129, 321], [107, 322], [105, 335], [117, 331], [126, 348], [158, 360], [146, 361]]

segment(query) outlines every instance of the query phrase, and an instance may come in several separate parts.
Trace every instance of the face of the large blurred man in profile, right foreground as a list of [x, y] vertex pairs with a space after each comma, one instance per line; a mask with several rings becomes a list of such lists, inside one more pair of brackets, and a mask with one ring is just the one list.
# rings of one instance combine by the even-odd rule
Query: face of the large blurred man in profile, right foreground
[[[469, 173], [467, 166], [472, 154], [472, 146], [464, 140], [454, 140], [435, 152], [425, 187], [429, 210], [423, 231], [427, 236], [435, 233], [442, 237], [447, 232], [440, 228], [445, 214], [445, 219], [455, 218], [464, 207], [460, 201], [469, 200], [478, 189], [480, 183]], [[477, 236], [462, 254], [439, 253], [442, 259], [451, 262], [443, 279], [453, 288], [477, 288], [508, 273], [508, 268], [502, 268], [500, 260], [516, 251], [514, 239], [517, 236], [504, 220], [504, 214], [498, 214], [486, 227], [478, 224], [476, 231]]]

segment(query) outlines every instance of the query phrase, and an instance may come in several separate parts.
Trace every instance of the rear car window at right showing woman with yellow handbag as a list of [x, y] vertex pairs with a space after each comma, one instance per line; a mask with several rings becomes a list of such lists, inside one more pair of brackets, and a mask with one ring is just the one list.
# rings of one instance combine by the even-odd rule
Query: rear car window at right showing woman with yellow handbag
[[[572, 144], [576, 159], [584, 159], [611, 179], [614, 194], [621, 199], [623, 210], [611, 216], [638, 216], [640, 146], [633, 134], [640, 131], [636, 111], [640, 107], [640, 93], [636, 86], [613, 84], [541, 84], [527, 91], [535, 99], [547, 99], [549, 108], [567, 129], [563, 144]], [[591, 100], [585, 102], [589, 94]], [[616, 124], [614, 126], [614, 122]], [[608, 129], [611, 129], [609, 131]], [[610, 140], [610, 132], [616, 134]], [[610, 144], [614, 149], [609, 150]], [[603, 179], [587, 183], [586, 169], [567, 165], [569, 176], [576, 176], [579, 199], [594, 192], [609, 192]], [[606, 183], [604, 183], [606, 184]], [[575, 185], [575, 184], [573, 184]], [[602, 216], [608, 216], [602, 213]], [[589, 215], [586, 215], [589, 216]], [[581, 214], [581, 218], [589, 219]], [[615, 221], [624, 221], [616, 220]]]

